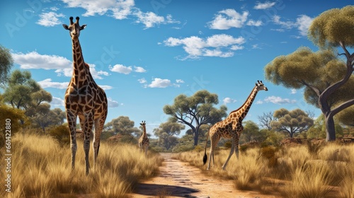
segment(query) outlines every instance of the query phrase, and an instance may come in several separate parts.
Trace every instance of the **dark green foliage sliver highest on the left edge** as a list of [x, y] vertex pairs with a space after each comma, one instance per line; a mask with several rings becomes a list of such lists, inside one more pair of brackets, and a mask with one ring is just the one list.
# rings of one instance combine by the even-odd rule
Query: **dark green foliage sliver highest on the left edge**
[[8, 81], [8, 74], [12, 67], [13, 59], [10, 50], [0, 45], [0, 87], [4, 87]]

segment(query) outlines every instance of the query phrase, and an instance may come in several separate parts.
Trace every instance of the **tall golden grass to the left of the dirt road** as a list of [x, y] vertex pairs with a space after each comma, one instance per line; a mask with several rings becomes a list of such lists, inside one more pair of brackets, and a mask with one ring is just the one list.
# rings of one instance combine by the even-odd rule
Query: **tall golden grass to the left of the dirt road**
[[[91, 149], [86, 176], [82, 141], [72, 171], [69, 146], [60, 147], [50, 136], [21, 133], [13, 136], [11, 152], [11, 193], [2, 185], [0, 197], [125, 197], [138, 180], [156, 175], [163, 161], [158, 154], [144, 156], [137, 146], [101, 142], [94, 169]], [[4, 174], [1, 170], [0, 177]]]

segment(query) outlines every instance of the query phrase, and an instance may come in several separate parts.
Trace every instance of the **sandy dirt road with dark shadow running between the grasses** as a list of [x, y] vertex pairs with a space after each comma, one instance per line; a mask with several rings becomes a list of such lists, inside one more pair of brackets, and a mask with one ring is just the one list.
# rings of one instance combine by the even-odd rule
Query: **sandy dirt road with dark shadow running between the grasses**
[[206, 176], [188, 163], [171, 158], [164, 153], [160, 174], [137, 187], [132, 197], [221, 197], [221, 198], [270, 198], [273, 196], [252, 191], [236, 190], [231, 180], [219, 180]]

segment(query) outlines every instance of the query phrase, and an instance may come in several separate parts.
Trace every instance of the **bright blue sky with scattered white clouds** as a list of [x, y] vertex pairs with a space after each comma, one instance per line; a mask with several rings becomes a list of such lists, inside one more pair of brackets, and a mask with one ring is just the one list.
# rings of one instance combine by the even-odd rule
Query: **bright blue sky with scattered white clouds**
[[6, 0], [0, 3], [0, 45], [11, 50], [16, 69], [26, 69], [52, 93], [52, 108], [64, 110], [72, 75], [72, 42], [62, 24], [80, 17], [87, 24], [79, 40], [85, 62], [109, 100], [106, 122], [128, 116], [147, 132], [168, 116], [163, 107], [177, 95], [206, 89], [228, 112], [244, 103], [257, 80], [262, 91], [246, 117], [285, 107], [319, 110], [302, 90], [265, 80], [264, 66], [307, 40], [320, 13], [348, 1], [187, 0]]

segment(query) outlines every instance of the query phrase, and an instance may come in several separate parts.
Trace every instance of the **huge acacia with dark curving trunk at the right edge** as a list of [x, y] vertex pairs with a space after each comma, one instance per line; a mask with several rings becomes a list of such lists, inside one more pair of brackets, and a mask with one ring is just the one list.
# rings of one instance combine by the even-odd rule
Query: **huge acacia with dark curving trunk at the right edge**
[[[309, 39], [320, 50], [300, 47], [265, 66], [265, 78], [287, 88], [304, 88], [305, 100], [319, 107], [325, 117], [326, 140], [336, 139], [333, 116], [354, 105], [354, 6], [321, 13], [309, 27]], [[336, 54], [343, 50], [345, 61]], [[349, 111], [347, 111], [349, 112]]]

